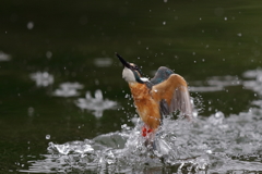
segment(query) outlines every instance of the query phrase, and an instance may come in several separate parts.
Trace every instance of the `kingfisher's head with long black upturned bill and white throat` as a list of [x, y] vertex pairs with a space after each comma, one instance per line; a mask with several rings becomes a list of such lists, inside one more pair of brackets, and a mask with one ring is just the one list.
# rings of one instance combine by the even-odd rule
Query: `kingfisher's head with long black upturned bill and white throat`
[[145, 79], [141, 77], [142, 72], [139, 69], [138, 65], [133, 63], [129, 63], [122, 59], [118, 53], [116, 53], [120, 62], [123, 64], [123, 71], [122, 71], [122, 77], [126, 79], [128, 83], [140, 83], [144, 84]]

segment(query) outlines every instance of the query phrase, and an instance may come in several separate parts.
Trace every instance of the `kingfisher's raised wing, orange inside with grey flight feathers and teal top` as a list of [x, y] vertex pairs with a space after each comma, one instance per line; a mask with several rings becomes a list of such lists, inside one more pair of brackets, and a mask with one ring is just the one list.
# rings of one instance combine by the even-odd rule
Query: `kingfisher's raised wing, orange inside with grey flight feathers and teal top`
[[162, 66], [151, 83], [153, 85], [152, 97], [160, 103], [163, 114], [170, 114], [176, 110], [180, 110], [182, 114], [191, 117], [192, 105], [188, 85], [183, 77]]

